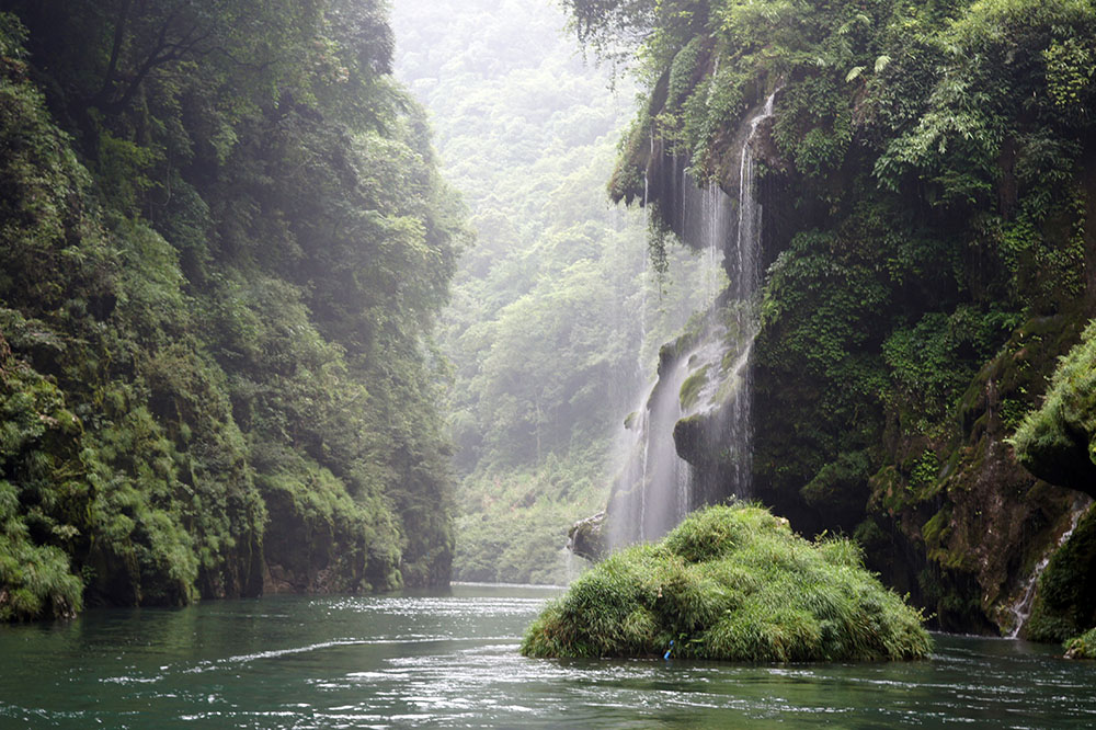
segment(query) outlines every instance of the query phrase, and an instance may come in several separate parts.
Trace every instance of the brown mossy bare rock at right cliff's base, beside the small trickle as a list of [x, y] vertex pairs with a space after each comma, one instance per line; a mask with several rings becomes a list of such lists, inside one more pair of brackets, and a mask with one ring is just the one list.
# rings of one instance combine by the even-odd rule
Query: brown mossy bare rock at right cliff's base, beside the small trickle
[[[945, 630], [1012, 631], [1037, 563], [1068, 528], [1074, 494], [1016, 463], [1008, 437], [1076, 341], [1075, 318], [1035, 317], [1017, 327], [954, 404], [946, 429], [926, 436], [898, 403], [884, 441], [893, 466], [872, 478], [869, 513], [899, 539], [891, 560], [915, 568], [911, 590]], [[898, 547], [903, 546], [903, 547]], [[910, 549], [913, 547], [913, 550]], [[877, 557], [878, 554], [872, 554]], [[874, 570], [894, 570], [869, 561]]]

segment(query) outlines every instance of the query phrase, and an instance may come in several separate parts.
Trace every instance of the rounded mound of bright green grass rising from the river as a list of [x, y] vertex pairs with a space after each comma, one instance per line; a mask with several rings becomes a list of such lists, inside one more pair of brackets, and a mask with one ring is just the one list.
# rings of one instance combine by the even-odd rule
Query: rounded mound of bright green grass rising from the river
[[609, 557], [550, 603], [526, 657], [753, 662], [909, 660], [924, 617], [864, 568], [859, 547], [809, 543], [752, 505], [697, 512], [661, 543]]

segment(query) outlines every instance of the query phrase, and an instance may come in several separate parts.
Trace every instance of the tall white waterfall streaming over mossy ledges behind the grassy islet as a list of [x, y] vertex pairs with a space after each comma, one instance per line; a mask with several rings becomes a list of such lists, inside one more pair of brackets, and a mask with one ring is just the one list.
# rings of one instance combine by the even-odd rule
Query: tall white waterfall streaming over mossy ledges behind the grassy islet
[[[692, 334], [675, 343], [676, 352], [662, 358], [658, 380], [618, 436], [620, 470], [608, 506], [610, 548], [658, 539], [716, 491], [750, 495], [750, 353], [762, 278], [754, 144], [762, 122], [773, 116], [775, 96], [768, 96], [745, 130], [738, 201], [716, 182], [697, 184], [684, 159], [664, 158], [670, 169], [662, 176], [662, 194], [676, 214], [678, 236], [701, 252], [705, 265], [690, 285], [704, 292], [708, 310], [693, 322]], [[651, 149], [653, 155], [653, 141]], [[648, 187], [644, 180], [644, 198]], [[699, 489], [694, 467], [680, 455], [674, 431], [683, 423], [696, 425], [694, 432], [711, 441], [701, 450], [728, 455], [716, 470], [718, 490]]]

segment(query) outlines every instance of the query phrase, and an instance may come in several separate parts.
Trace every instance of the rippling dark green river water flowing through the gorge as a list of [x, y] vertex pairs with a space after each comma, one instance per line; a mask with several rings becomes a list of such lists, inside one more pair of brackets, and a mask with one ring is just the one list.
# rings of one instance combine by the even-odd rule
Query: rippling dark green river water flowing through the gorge
[[1089, 728], [1096, 665], [937, 636], [931, 661], [524, 659], [558, 591], [266, 597], [0, 627], [0, 728]]

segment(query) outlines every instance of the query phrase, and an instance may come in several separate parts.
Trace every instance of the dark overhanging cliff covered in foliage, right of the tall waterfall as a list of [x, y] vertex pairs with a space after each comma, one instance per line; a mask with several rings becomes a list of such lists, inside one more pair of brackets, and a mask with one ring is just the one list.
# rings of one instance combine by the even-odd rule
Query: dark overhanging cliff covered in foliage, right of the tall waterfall
[[961, 630], [1016, 630], [1072, 535], [1026, 631], [1096, 623], [1091, 331], [1059, 365], [1096, 312], [1093, 3], [566, 4], [646, 84], [613, 196], [678, 233], [670, 157], [733, 196], [773, 95], [754, 495]]

